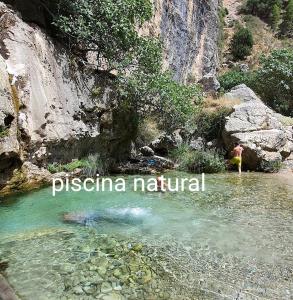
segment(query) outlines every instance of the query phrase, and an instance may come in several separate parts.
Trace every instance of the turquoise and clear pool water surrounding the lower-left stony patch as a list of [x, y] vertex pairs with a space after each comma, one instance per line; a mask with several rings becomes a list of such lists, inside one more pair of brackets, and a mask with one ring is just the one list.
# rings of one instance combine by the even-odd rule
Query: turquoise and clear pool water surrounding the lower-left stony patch
[[[191, 176], [168, 174], [176, 175]], [[20, 284], [35, 269], [16, 276], [15, 270], [22, 269], [28, 255], [23, 241], [58, 230], [74, 232], [85, 244], [84, 232], [94, 230], [97, 235], [135, 239], [157, 249], [161, 253], [158, 264], [168, 266], [166, 272], [190, 299], [199, 291], [203, 299], [293, 298], [292, 185], [270, 174], [221, 174], [206, 177], [205, 192], [143, 193], [133, 191], [133, 177], [125, 179], [124, 193], [61, 192], [52, 197], [51, 188], [45, 188], [0, 202], [0, 254], [11, 261], [8, 279], [24, 298], [30, 299], [39, 289], [30, 286], [31, 294], [25, 294], [27, 287]], [[129, 212], [125, 222], [113, 217], [84, 227], [62, 220], [64, 212], [121, 216], [125, 210]], [[11, 243], [17, 249], [14, 252], [8, 251]], [[50, 244], [48, 235], [46, 245], [56, 253], [61, 251], [56, 237]], [[42, 251], [31, 244], [27, 247], [30, 254]], [[54, 292], [50, 295], [59, 297]]]

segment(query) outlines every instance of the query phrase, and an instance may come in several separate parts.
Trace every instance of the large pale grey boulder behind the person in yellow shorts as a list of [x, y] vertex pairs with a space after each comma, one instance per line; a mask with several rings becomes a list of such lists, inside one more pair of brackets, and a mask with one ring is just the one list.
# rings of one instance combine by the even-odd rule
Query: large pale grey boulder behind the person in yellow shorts
[[282, 116], [268, 108], [245, 85], [233, 88], [226, 98], [239, 99], [227, 117], [223, 140], [227, 150], [235, 142], [244, 146], [243, 164], [251, 170], [285, 161], [293, 152], [293, 130], [282, 123]]

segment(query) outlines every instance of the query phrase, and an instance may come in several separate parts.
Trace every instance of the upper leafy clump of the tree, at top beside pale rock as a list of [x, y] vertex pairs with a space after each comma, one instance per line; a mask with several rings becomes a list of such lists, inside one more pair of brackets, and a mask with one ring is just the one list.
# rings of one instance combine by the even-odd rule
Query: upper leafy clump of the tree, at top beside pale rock
[[151, 55], [160, 62], [160, 55], [155, 56], [160, 52], [159, 43], [139, 37], [136, 30], [152, 16], [149, 0], [61, 0], [60, 6], [54, 20], [59, 33], [75, 53], [84, 58], [88, 51], [95, 53], [99, 67], [148, 67], [145, 61]]

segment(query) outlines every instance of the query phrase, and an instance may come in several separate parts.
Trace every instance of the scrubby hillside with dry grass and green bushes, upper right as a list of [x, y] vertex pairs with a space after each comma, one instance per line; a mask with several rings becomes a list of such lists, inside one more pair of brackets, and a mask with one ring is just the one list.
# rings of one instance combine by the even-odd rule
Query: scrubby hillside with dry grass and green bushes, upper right
[[226, 57], [234, 61], [219, 76], [222, 91], [244, 83], [274, 110], [292, 116], [293, 1], [248, 0], [234, 18]]

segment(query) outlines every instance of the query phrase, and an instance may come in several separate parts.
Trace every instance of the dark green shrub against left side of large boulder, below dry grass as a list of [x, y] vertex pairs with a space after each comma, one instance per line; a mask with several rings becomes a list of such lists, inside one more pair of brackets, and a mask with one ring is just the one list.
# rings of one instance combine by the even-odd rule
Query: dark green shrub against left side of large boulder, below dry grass
[[231, 113], [231, 108], [221, 107], [216, 111], [201, 111], [193, 119], [196, 124], [195, 132], [197, 136], [208, 141], [220, 137], [225, 126], [226, 117]]

